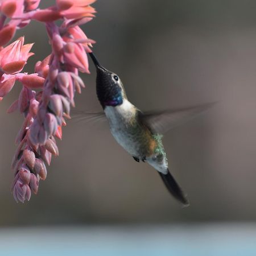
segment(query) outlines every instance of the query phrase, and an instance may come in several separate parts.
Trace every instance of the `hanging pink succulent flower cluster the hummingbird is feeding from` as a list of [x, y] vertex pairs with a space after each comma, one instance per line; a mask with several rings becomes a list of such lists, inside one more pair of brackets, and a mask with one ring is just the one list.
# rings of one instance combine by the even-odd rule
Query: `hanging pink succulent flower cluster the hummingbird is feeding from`
[[[87, 53], [94, 43], [79, 27], [89, 22], [95, 0], [56, 0], [55, 5], [39, 9], [40, 0], [0, 0], [0, 101], [13, 88], [22, 84], [19, 98], [8, 113], [19, 110], [24, 122], [16, 137], [18, 148], [11, 167], [15, 172], [12, 186], [14, 199], [30, 200], [38, 192], [39, 180], [46, 179], [46, 164], [59, 154], [55, 138], [61, 139], [61, 127], [75, 106], [75, 92], [81, 93], [84, 82], [80, 72], [89, 73]], [[8, 18], [8, 19], [7, 19]], [[6, 23], [6, 20], [9, 20]], [[15, 31], [31, 20], [43, 22], [52, 52], [35, 65], [35, 73], [22, 73], [33, 44], [19, 38], [9, 46]], [[55, 21], [62, 20], [57, 26]]]

